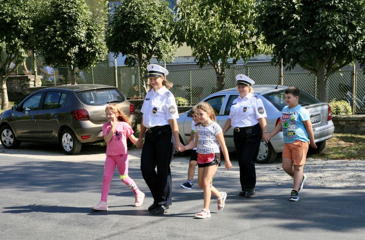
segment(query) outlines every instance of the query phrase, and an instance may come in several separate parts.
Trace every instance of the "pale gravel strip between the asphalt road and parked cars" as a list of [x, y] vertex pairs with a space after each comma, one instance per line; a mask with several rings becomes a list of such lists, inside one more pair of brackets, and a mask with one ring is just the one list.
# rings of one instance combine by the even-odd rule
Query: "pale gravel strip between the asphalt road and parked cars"
[[[6, 156], [18, 156], [25, 159], [45, 159], [67, 162], [85, 162], [104, 164], [105, 147], [83, 145], [80, 154], [65, 155], [57, 145], [41, 145], [22, 143], [18, 149], [5, 149], [0, 144], [0, 159]], [[133, 148], [129, 151], [129, 167], [140, 167], [141, 149]], [[188, 173], [189, 156], [174, 157], [171, 171], [174, 173]], [[224, 160], [215, 177], [239, 178], [237, 159], [231, 156], [233, 168], [224, 169]], [[304, 172], [307, 174], [306, 185], [338, 189], [365, 189], [364, 160], [323, 160], [307, 158]], [[196, 170], [197, 174], [197, 170]], [[291, 183], [289, 177], [281, 167], [280, 159], [270, 164], [256, 164], [257, 181], [274, 182], [277, 185]], [[196, 178], [196, 176], [195, 176]]]

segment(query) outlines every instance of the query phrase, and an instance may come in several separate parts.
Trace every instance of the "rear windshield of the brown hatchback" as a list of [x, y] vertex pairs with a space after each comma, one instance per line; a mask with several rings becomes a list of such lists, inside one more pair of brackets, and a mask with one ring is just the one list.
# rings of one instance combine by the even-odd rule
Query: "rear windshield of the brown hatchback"
[[80, 101], [87, 105], [105, 105], [109, 102], [123, 102], [126, 100], [119, 89], [91, 90], [76, 93]]

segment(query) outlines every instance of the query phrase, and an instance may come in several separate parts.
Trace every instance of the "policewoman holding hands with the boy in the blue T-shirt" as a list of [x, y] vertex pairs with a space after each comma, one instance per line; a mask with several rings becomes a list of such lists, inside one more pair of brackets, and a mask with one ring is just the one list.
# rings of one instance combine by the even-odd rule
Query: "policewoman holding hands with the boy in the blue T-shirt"
[[266, 128], [266, 111], [262, 100], [253, 94], [251, 85], [255, 82], [249, 77], [236, 76], [239, 96], [232, 102], [230, 115], [223, 127], [223, 134], [233, 127], [233, 141], [238, 156], [239, 178], [242, 191], [240, 196], [256, 194], [255, 160], [261, 139], [270, 140]]

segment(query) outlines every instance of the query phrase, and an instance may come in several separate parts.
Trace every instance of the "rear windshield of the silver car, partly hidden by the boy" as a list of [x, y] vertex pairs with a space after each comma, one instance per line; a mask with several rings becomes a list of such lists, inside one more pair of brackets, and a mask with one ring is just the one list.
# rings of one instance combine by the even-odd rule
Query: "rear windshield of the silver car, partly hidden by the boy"
[[[283, 108], [287, 105], [285, 103], [285, 89], [278, 90], [276, 92], [270, 92], [262, 95], [265, 97], [269, 102], [274, 105], [279, 111], [283, 110]], [[309, 93], [306, 93], [302, 90], [300, 90], [300, 97], [298, 103], [305, 107], [311, 104], [319, 103], [320, 101], [317, 100], [315, 97], [310, 95]]]

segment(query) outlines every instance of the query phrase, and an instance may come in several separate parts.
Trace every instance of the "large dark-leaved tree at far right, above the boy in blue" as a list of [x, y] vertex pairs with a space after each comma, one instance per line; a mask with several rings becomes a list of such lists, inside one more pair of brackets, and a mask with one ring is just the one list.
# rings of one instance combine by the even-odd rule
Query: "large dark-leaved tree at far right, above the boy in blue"
[[274, 44], [272, 61], [315, 74], [320, 101], [327, 102], [331, 74], [364, 62], [365, 1], [262, 0], [258, 13], [266, 43]]

